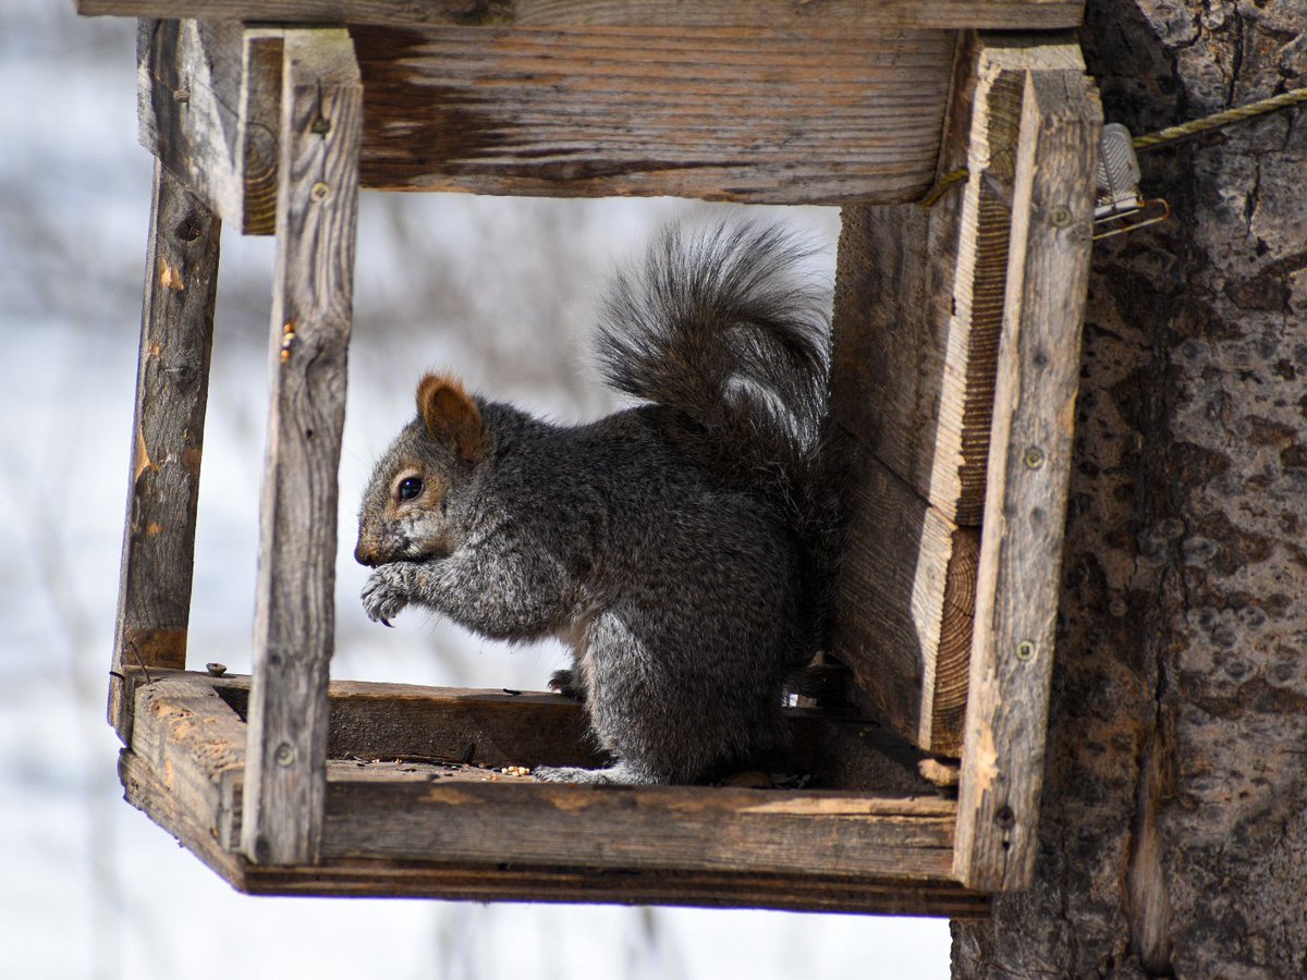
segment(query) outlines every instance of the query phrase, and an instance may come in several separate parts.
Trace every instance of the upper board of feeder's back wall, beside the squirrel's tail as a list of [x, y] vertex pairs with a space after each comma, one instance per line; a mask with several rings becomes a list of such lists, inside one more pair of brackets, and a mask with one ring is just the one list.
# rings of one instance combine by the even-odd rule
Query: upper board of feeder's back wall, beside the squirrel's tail
[[833, 412], [950, 521], [978, 527], [1023, 72], [1074, 68], [1078, 48], [991, 35], [958, 59], [940, 174], [966, 184], [932, 208], [850, 208], [836, 274]]

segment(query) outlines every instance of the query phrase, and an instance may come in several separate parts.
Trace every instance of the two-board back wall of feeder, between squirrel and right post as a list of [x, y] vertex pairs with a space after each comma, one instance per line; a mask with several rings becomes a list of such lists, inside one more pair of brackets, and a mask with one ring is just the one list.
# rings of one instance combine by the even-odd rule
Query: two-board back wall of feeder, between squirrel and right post
[[[962, 754], [972, 613], [993, 587], [976, 564], [991, 446], [1006, 451], [991, 429], [1009, 237], [1027, 221], [1014, 199], [1026, 76], [1082, 72], [1069, 38], [1040, 41], [970, 41], [940, 158], [941, 176], [966, 167], [966, 182], [929, 209], [846, 208], [840, 237], [831, 401], [857, 448], [831, 652], [861, 704], [944, 755]], [[1031, 289], [1082, 285], [1053, 274]], [[1060, 353], [1072, 370], [1077, 353]]]

